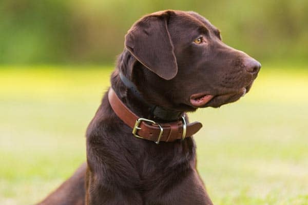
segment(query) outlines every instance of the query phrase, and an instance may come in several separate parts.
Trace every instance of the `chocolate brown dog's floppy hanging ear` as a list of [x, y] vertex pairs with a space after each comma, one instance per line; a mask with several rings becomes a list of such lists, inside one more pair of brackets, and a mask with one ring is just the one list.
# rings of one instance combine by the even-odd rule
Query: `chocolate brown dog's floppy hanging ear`
[[167, 22], [172, 11], [141, 18], [125, 35], [125, 47], [145, 67], [169, 80], [178, 72]]

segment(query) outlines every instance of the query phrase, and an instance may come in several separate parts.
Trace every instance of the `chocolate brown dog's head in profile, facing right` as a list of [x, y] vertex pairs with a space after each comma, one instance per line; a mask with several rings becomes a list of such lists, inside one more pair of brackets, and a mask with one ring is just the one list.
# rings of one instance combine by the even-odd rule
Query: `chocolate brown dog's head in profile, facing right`
[[136, 58], [131, 76], [150, 103], [179, 111], [220, 107], [249, 91], [260, 63], [225, 45], [219, 30], [195, 12], [142, 17], [125, 36]]

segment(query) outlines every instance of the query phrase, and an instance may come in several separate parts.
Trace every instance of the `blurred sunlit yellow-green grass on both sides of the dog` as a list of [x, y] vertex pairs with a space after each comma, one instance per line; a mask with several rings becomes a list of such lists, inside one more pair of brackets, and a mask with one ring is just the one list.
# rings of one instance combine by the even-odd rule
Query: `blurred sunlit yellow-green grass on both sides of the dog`
[[[0, 69], [0, 204], [33, 204], [85, 160], [111, 68]], [[190, 114], [215, 204], [308, 204], [308, 70], [263, 65], [235, 104]]]

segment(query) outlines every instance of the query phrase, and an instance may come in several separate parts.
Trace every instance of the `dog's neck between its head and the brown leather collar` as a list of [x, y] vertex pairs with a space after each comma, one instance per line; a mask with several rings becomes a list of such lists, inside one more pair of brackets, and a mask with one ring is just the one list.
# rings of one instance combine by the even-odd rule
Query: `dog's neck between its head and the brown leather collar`
[[127, 50], [124, 50], [119, 56], [118, 66], [111, 77], [112, 88], [123, 103], [133, 113], [143, 118], [164, 122], [181, 119], [181, 116], [183, 116], [182, 112], [167, 110], [149, 104], [147, 100], [143, 98], [138, 88], [131, 81], [134, 63], [136, 63], [136, 59]]

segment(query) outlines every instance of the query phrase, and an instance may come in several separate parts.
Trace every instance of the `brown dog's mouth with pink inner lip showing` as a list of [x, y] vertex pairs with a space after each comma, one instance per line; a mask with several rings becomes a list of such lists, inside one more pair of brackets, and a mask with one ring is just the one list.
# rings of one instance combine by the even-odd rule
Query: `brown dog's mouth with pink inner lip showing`
[[223, 94], [209, 94], [197, 93], [192, 94], [189, 98], [190, 104], [194, 108], [214, 107], [218, 108], [222, 105], [233, 103], [243, 97], [251, 88], [251, 85], [243, 87], [239, 90], [223, 93]]

